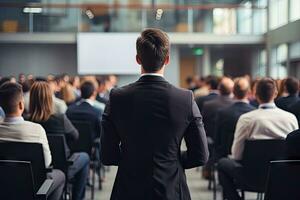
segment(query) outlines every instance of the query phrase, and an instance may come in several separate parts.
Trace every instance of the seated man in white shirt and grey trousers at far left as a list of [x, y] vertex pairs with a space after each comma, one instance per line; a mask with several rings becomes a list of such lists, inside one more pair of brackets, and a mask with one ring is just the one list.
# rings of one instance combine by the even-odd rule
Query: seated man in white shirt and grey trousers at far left
[[[45, 130], [41, 125], [25, 121], [22, 118], [24, 111], [22, 86], [9, 82], [0, 86], [0, 106], [6, 115], [4, 122], [0, 123], [0, 141], [42, 144], [45, 166], [49, 167], [52, 158]], [[54, 181], [49, 199], [60, 200], [64, 189], [65, 175], [60, 170], [53, 170], [48, 176]]]

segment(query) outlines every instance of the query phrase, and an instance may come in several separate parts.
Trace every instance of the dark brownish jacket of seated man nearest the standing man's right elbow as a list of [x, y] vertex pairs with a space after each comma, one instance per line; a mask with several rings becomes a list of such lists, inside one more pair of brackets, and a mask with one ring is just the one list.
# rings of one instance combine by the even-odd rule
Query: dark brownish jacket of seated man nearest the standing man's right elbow
[[219, 96], [216, 99], [207, 101], [203, 105], [203, 122], [206, 135], [210, 138], [215, 137], [216, 131], [216, 117], [219, 110], [226, 108], [234, 103], [229, 96]]

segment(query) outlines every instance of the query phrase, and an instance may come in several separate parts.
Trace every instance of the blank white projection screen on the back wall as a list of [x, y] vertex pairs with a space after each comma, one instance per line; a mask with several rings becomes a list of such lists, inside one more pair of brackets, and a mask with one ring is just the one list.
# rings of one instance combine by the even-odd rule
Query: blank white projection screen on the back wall
[[135, 61], [136, 33], [79, 33], [79, 74], [138, 74]]

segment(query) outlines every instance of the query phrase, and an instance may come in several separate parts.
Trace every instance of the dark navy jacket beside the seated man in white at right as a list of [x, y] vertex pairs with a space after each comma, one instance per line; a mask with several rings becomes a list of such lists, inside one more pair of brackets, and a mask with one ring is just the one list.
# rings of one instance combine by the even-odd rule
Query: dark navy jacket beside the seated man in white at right
[[217, 159], [231, 154], [237, 121], [242, 114], [252, 110], [255, 110], [255, 107], [239, 101], [217, 113], [216, 135], [214, 139]]

